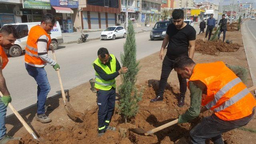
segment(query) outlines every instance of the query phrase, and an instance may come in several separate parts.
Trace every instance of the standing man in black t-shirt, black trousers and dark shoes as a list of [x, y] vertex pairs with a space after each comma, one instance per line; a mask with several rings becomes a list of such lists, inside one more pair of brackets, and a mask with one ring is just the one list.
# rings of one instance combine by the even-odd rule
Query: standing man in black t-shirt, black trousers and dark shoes
[[[182, 9], [175, 9], [172, 12], [173, 23], [169, 24], [166, 30], [166, 36], [162, 42], [159, 53], [160, 60], [163, 59], [164, 49], [167, 44], [167, 52], [162, 63], [162, 73], [159, 82], [158, 94], [150, 102], [163, 100], [164, 89], [166, 88], [167, 79], [173, 69], [174, 60], [180, 56], [189, 56], [193, 58], [196, 46], [196, 30], [184, 22], [184, 12]], [[184, 105], [185, 93], [187, 90], [186, 78], [178, 74], [180, 83], [180, 96], [178, 97], [178, 106]]]

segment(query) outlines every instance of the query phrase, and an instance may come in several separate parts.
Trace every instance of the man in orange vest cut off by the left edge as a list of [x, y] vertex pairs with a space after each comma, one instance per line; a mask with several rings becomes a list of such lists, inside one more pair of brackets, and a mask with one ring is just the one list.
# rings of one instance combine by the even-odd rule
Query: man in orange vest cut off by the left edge
[[9, 61], [3, 48], [10, 49], [16, 38], [18, 38], [18, 33], [14, 26], [7, 25], [0, 29], [0, 91], [3, 94], [3, 97], [0, 97], [0, 144], [6, 144], [10, 140], [20, 140], [19, 137], [14, 138], [6, 135], [5, 116], [8, 103], [12, 102], [12, 98], [2, 74], [2, 70]]

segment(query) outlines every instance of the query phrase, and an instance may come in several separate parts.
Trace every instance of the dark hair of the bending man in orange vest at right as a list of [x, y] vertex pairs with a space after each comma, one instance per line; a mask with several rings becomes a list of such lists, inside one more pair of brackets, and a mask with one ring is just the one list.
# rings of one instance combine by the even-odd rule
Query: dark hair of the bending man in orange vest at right
[[184, 69], [186, 66], [190, 66], [191, 64], [196, 63], [188, 56], [182, 56], [174, 60], [173, 68]]

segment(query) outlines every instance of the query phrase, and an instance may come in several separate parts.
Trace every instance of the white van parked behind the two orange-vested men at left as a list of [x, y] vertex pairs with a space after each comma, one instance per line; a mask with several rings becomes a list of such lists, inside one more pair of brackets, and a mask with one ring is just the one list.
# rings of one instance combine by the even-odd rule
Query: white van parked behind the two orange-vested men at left
[[[40, 23], [41, 22], [28, 22], [28, 23], [12, 24], [12, 25], [15, 25], [15, 28], [18, 31], [18, 34], [20, 34], [20, 38], [18, 38], [14, 42], [14, 46], [12, 46], [9, 50], [4, 49], [6, 54], [10, 54], [10, 56], [12, 57], [20, 56], [26, 48], [28, 32], [33, 26], [40, 25]], [[54, 45], [54, 50], [58, 49], [58, 44], [63, 43], [60, 24], [58, 21], [56, 22], [56, 25], [54, 25], [54, 28], [52, 29], [50, 36], [52, 38], [52, 44]]]

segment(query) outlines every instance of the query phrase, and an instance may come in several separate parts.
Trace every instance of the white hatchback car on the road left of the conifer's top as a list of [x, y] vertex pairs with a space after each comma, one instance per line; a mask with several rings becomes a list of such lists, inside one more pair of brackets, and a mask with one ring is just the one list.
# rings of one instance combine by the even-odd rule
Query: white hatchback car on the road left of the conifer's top
[[123, 26], [110, 26], [100, 33], [100, 39], [115, 40], [118, 37], [126, 38], [126, 30]]

